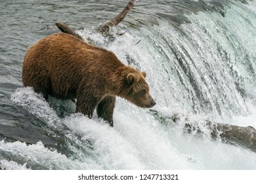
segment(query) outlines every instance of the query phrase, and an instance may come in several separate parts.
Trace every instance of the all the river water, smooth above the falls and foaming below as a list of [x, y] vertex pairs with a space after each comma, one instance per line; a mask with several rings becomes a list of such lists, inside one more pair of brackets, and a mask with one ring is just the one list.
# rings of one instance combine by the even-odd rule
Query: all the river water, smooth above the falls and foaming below
[[[255, 1], [138, 1], [112, 37], [94, 31], [126, 4], [0, 1], [0, 169], [256, 169], [255, 152], [213, 141], [204, 125], [202, 135], [183, 129], [256, 127]], [[118, 98], [112, 128], [22, 87], [26, 50], [56, 22], [146, 71], [157, 105]]]

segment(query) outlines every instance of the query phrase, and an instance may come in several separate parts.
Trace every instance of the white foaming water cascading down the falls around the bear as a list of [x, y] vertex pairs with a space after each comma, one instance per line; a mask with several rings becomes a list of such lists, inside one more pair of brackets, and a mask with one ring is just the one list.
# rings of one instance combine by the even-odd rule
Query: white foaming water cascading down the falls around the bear
[[[125, 34], [112, 42], [91, 30], [79, 33], [112, 50], [123, 63], [146, 71], [157, 102], [154, 110], [188, 115], [190, 122], [209, 119], [256, 127], [255, 1], [230, 3], [224, 17], [216, 12], [187, 17], [191, 24], [179, 27], [164, 18], [152, 27], [120, 25], [113, 33]], [[2, 156], [9, 157], [0, 160], [2, 169], [256, 169], [255, 152], [212, 141], [203, 126], [200, 137], [184, 133], [186, 117], [178, 124], [161, 123], [150, 110], [123, 99], [117, 99], [114, 128], [96, 114], [91, 120], [71, 114], [71, 101], [51, 98], [49, 105], [31, 88], [16, 90], [11, 100], [60, 129], [74, 142], [69, 146], [74, 155], [49, 150], [42, 142], [0, 141]], [[60, 110], [67, 114], [60, 117]]]

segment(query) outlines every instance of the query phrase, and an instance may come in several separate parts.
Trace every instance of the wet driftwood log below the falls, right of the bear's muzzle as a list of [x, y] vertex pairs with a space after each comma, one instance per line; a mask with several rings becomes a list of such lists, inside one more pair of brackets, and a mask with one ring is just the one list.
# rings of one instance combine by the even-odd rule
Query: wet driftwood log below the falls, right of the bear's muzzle
[[167, 116], [157, 110], [150, 109], [150, 114], [163, 124], [173, 123], [179, 125], [182, 122], [184, 124], [184, 133], [190, 133], [196, 137], [200, 137], [205, 133], [205, 129], [207, 129], [210, 131], [211, 139], [214, 141], [221, 140], [223, 143], [241, 146], [256, 152], [256, 129], [254, 127], [240, 127], [237, 125], [210, 122], [209, 120], [200, 120], [198, 122], [192, 120], [190, 116], [178, 114], [178, 112]]

